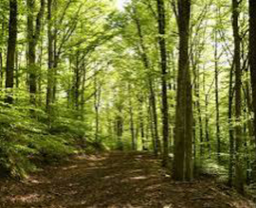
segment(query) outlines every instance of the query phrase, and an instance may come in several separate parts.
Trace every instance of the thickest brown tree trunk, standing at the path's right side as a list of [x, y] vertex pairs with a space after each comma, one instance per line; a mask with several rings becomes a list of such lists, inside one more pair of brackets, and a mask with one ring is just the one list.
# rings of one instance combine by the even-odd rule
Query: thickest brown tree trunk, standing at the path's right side
[[178, 1], [179, 64], [174, 133], [174, 179], [192, 180], [192, 84], [189, 61], [191, 1]]

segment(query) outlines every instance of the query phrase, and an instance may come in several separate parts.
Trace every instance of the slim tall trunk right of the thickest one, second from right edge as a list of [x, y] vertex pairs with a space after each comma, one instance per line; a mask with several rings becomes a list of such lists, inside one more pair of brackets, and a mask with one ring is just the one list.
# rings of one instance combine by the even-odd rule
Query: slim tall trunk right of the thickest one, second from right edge
[[235, 187], [240, 193], [244, 193], [244, 177], [243, 177], [243, 157], [242, 157], [242, 126], [241, 126], [241, 86], [242, 86], [242, 70], [241, 70], [241, 41], [239, 34], [239, 2], [232, 0], [232, 26], [234, 38], [234, 64], [235, 64]]

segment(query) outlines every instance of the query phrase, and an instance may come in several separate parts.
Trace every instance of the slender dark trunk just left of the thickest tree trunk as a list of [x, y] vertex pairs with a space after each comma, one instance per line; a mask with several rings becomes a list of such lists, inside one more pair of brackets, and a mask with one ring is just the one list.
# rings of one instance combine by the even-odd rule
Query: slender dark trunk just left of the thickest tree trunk
[[158, 44], [161, 58], [161, 81], [162, 81], [162, 130], [163, 130], [163, 158], [162, 165], [168, 165], [169, 153], [169, 113], [168, 113], [168, 96], [167, 96], [167, 52], [165, 42], [165, 6], [163, 0], [157, 0], [158, 12]]

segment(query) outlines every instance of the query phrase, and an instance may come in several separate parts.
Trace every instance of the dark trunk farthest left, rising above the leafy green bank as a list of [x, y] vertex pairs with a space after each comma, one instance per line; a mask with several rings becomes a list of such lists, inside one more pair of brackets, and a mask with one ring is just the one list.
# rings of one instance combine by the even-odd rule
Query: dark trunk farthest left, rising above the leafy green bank
[[[8, 54], [7, 54], [7, 77], [6, 88], [12, 91], [14, 85], [14, 63], [15, 50], [17, 41], [17, 16], [18, 4], [16, 0], [9, 0], [9, 40], [8, 40]], [[11, 104], [13, 102], [12, 92], [8, 92], [6, 101]]]

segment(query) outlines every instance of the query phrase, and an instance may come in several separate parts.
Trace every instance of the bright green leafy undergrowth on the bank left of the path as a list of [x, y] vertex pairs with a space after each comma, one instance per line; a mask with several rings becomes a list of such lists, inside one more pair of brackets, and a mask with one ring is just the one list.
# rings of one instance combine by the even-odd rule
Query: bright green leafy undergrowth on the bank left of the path
[[42, 110], [21, 105], [0, 108], [0, 177], [22, 179], [42, 165], [103, 150], [87, 137], [84, 122], [64, 116], [56, 116], [49, 126]]

